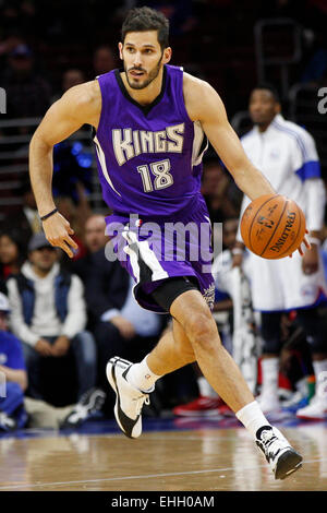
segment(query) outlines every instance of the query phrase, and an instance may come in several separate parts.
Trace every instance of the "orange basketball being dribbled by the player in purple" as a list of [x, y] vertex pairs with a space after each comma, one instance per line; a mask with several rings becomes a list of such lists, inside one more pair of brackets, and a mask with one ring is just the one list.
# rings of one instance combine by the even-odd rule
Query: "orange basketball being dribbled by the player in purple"
[[280, 194], [254, 200], [241, 219], [244, 244], [263, 259], [283, 259], [296, 251], [305, 235], [305, 217], [295, 202]]

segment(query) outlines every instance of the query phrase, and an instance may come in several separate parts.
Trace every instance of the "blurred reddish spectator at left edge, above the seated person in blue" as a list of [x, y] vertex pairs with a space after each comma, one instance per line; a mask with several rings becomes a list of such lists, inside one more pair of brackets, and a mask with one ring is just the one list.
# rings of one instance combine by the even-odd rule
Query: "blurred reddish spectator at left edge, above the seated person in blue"
[[19, 274], [25, 260], [20, 234], [15, 230], [0, 232], [0, 279], [5, 281], [13, 274]]

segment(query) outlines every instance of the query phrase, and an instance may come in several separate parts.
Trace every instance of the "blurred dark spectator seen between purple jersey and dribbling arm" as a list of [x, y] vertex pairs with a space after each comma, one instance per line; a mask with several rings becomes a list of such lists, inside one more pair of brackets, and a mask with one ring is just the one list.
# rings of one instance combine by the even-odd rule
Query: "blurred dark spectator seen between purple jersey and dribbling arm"
[[206, 201], [213, 223], [221, 223], [227, 218], [237, 217], [239, 207], [232, 201], [234, 186], [223, 171], [219, 160], [211, 159], [204, 166], [202, 177], [202, 194]]

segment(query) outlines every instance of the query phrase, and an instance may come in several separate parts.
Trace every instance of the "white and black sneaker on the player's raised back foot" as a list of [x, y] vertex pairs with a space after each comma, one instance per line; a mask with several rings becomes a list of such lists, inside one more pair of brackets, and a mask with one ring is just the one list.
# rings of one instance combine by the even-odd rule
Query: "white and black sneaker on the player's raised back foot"
[[142, 433], [141, 411], [144, 403], [149, 404], [149, 397], [128, 382], [126, 373], [132, 365], [131, 361], [114, 357], [108, 361], [106, 372], [116, 392], [116, 420], [126, 437], [138, 438]]

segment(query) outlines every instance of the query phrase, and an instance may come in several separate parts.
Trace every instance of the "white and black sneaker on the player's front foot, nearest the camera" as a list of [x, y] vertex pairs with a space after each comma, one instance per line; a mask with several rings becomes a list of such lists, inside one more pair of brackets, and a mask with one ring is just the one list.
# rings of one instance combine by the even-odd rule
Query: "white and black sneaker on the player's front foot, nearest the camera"
[[256, 444], [266, 456], [275, 479], [284, 479], [301, 468], [302, 456], [277, 428], [270, 426], [261, 428], [256, 433]]

